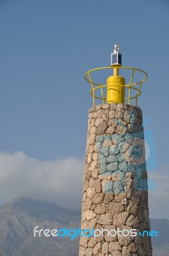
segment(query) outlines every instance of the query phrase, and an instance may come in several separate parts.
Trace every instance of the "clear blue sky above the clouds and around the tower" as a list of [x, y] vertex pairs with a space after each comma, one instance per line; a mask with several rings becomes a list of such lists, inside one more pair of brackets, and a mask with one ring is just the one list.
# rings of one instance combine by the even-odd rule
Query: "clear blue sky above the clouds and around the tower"
[[122, 64], [145, 70], [138, 106], [168, 166], [169, 3], [160, 0], [0, 2], [0, 152], [38, 161], [84, 159], [90, 86], [84, 73]]

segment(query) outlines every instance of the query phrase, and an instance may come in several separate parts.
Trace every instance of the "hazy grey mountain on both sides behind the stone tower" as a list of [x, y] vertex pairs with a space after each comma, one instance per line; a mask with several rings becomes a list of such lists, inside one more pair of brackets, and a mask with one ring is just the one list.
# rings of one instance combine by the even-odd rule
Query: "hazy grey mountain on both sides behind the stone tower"
[[[78, 256], [79, 239], [34, 237], [34, 227], [78, 228], [80, 212], [67, 211], [55, 204], [16, 198], [0, 206], [0, 256]], [[169, 256], [169, 220], [151, 219], [153, 256]]]

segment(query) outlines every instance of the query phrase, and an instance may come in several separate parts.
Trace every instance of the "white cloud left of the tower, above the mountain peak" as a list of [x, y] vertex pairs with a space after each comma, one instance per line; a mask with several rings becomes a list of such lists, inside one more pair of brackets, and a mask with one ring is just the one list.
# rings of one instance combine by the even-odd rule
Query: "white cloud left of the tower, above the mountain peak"
[[1, 200], [29, 196], [79, 209], [84, 160], [73, 157], [38, 161], [24, 152], [0, 153]]

